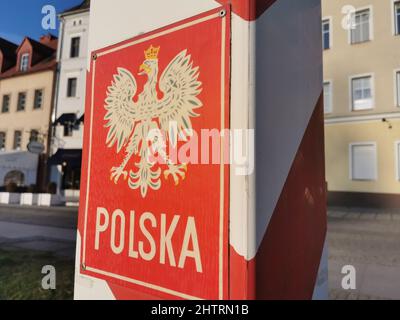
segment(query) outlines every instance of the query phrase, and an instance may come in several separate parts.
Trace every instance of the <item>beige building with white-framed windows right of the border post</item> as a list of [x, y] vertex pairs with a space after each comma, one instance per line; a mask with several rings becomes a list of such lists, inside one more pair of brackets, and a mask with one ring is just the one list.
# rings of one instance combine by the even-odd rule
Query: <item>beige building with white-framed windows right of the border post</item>
[[331, 204], [400, 206], [400, 1], [322, 0]]

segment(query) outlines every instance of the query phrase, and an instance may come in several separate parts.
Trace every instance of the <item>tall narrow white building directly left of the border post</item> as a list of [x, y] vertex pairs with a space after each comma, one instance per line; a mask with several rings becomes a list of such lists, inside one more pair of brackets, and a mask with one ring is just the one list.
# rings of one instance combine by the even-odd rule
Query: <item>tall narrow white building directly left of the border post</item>
[[[58, 76], [49, 164], [58, 190], [79, 190], [85, 109], [90, 0], [64, 11], [60, 18]], [[65, 192], [71, 194], [70, 191]], [[72, 192], [73, 194], [74, 192]], [[77, 194], [77, 192], [75, 192]]]

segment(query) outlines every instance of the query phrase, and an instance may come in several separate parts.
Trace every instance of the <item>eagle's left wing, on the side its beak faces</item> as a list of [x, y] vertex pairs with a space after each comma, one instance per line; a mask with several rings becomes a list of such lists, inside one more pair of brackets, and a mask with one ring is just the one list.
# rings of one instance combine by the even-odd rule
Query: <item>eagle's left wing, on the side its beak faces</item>
[[104, 120], [108, 129], [106, 144], [111, 148], [117, 143], [117, 152], [127, 143], [133, 131], [136, 108], [132, 98], [137, 91], [135, 77], [126, 69], [118, 68], [107, 90]]

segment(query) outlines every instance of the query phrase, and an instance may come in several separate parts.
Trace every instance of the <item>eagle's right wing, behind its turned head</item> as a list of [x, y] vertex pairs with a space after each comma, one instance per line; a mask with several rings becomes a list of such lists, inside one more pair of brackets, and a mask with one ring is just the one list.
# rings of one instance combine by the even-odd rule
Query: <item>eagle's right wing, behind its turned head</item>
[[173, 146], [176, 146], [178, 132], [173, 132], [174, 126], [169, 125], [170, 121], [176, 121], [178, 131], [190, 130], [190, 118], [198, 116], [194, 110], [203, 105], [197, 98], [202, 85], [198, 81], [199, 67], [193, 67], [191, 56], [186, 53], [183, 50], [170, 62], [159, 82], [164, 97], [157, 106], [156, 114], [161, 129], [168, 132]]

